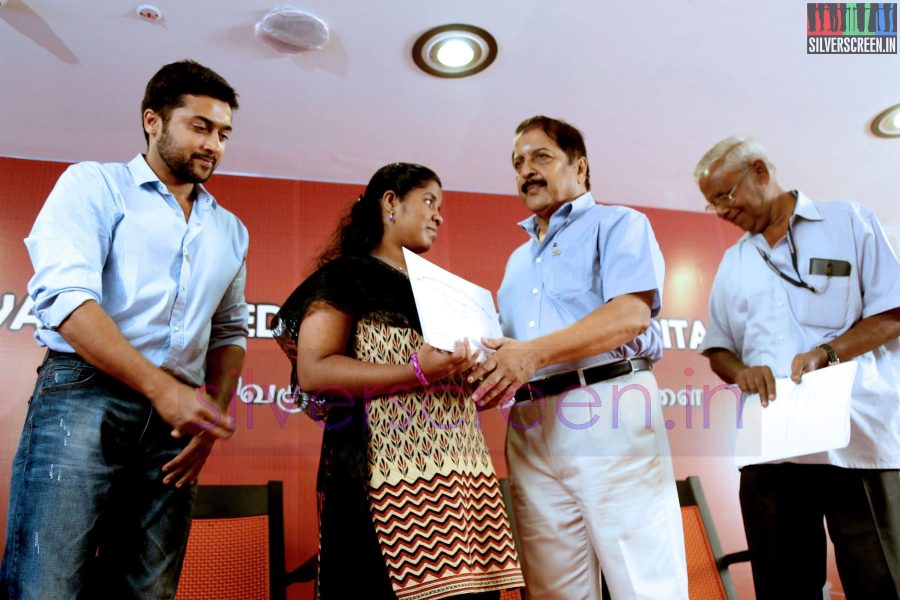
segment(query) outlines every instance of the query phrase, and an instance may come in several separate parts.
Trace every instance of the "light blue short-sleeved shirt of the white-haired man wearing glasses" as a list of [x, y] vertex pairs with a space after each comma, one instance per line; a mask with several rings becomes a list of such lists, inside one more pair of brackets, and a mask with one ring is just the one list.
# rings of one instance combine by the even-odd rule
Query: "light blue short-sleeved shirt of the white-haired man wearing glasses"
[[[789, 377], [797, 354], [900, 306], [900, 263], [870, 210], [853, 202], [813, 203], [799, 194], [791, 229], [800, 275], [817, 293], [783, 280], [757, 250], [796, 278], [786, 237], [770, 248], [761, 234], [745, 234], [719, 265], [701, 351], [723, 348], [748, 366]], [[810, 275], [811, 258], [847, 261], [850, 275]], [[854, 360], [850, 445], [791, 462], [900, 468], [900, 340]]]

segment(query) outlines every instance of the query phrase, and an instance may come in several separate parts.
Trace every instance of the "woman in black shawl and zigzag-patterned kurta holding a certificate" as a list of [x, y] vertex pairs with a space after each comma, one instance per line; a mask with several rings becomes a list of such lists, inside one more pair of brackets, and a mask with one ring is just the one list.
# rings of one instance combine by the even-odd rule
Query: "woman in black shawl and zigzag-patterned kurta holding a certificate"
[[427, 251], [441, 183], [421, 165], [375, 173], [275, 337], [323, 421], [324, 600], [499, 597], [523, 585], [490, 454], [463, 374], [476, 356], [425, 344], [402, 248]]

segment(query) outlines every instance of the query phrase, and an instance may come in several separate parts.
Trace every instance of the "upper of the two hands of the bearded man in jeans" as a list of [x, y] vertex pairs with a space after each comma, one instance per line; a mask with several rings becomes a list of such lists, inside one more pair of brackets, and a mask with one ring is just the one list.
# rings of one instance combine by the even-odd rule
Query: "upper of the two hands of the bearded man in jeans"
[[[174, 380], [174, 379], [173, 379]], [[172, 436], [208, 433], [216, 438], [234, 435], [231, 417], [222, 413], [206, 390], [185, 385], [177, 380], [150, 402], [163, 420], [172, 426]]]

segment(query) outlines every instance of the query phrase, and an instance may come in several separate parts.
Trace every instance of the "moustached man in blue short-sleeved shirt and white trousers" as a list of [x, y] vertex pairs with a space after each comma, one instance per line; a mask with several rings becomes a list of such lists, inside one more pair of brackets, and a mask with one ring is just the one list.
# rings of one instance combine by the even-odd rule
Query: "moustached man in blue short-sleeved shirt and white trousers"
[[647, 218], [601, 206], [581, 132], [537, 116], [513, 167], [531, 238], [498, 293], [505, 338], [472, 373], [507, 402], [507, 462], [529, 597], [687, 599], [681, 512], [652, 363], [664, 265]]

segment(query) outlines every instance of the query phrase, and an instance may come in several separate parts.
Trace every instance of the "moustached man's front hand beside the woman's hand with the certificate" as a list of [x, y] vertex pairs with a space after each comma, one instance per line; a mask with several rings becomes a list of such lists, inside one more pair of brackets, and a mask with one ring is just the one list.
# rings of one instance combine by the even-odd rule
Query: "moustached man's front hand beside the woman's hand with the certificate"
[[472, 400], [481, 408], [491, 408], [512, 399], [516, 390], [528, 383], [539, 365], [524, 342], [495, 338], [484, 339], [482, 343], [496, 352], [472, 371], [468, 381], [480, 382], [472, 394]]

